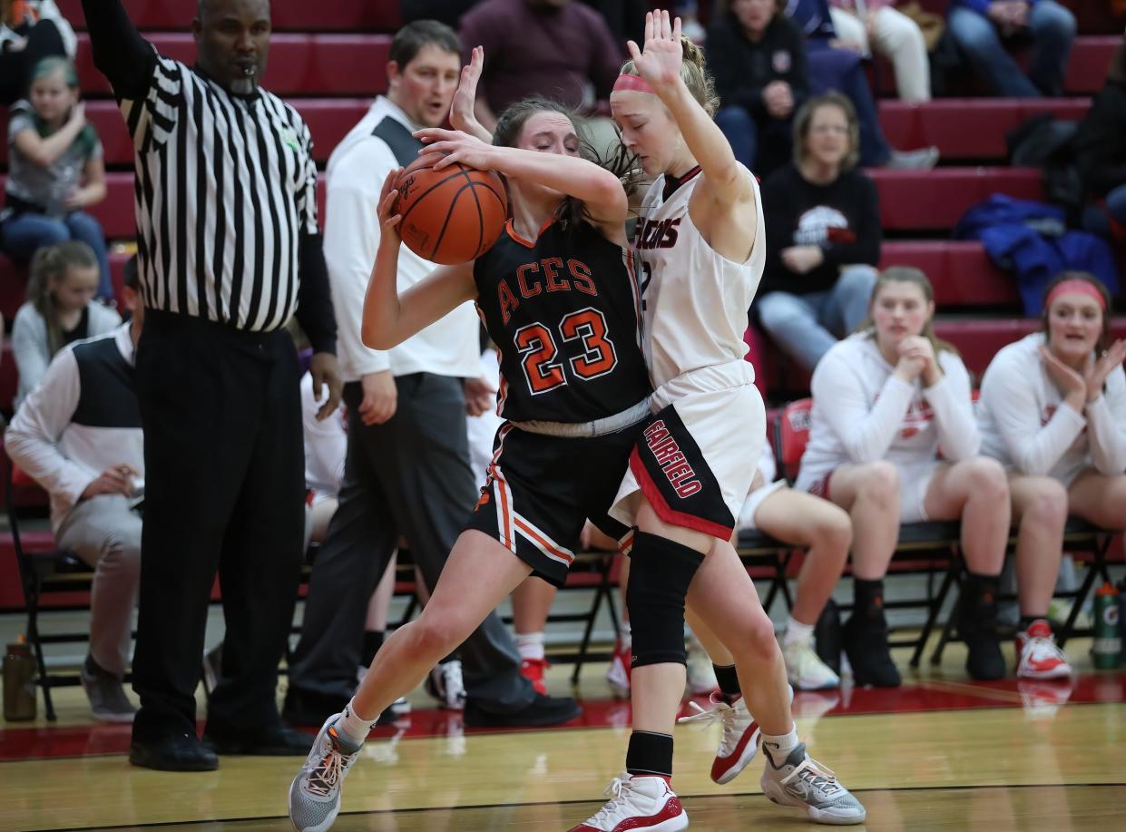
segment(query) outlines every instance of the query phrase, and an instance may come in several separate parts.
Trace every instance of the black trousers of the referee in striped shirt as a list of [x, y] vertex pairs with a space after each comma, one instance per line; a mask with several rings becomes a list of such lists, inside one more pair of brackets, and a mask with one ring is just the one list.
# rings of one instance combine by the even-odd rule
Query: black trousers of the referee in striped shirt
[[208, 731], [278, 722], [278, 662], [297, 592], [304, 450], [285, 331], [148, 311], [136, 355], [145, 518], [133, 687], [142, 742], [195, 733], [195, 689], [218, 571], [226, 634]]

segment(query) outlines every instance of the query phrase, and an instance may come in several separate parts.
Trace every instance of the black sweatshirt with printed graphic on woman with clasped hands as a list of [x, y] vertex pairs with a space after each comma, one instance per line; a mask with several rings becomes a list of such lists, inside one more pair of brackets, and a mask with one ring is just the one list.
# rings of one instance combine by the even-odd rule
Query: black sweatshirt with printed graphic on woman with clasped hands
[[[837, 283], [841, 266], [879, 261], [879, 196], [876, 184], [858, 170], [841, 173], [829, 185], [814, 185], [787, 164], [763, 182], [762, 213], [767, 262], [760, 296], [825, 292]], [[824, 260], [804, 275], [793, 272], [781, 261], [783, 249], [792, 245], [817, 245]]]

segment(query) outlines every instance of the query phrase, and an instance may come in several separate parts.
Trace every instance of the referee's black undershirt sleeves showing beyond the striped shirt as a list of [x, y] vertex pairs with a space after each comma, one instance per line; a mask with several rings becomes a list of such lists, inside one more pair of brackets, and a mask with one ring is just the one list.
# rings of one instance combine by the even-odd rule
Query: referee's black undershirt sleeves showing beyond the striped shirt
[[[82, 11], [93, 63], [109, 80], [118, 101], [144, 99], [157, 68], [152, 44], [141, 37], [120, 0], [82, 0]], [[295, 316], [315, 351], [334, 354], [337, 321], [321, 240], [319, 233], [303, 232], [298, 236]]]

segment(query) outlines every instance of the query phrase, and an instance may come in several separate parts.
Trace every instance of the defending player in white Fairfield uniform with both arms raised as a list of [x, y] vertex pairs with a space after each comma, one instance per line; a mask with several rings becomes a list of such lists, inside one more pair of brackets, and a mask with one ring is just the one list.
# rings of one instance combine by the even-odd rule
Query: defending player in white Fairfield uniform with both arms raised
[[814, 821], [860, 823], [864, 806], [798, 742], [774, 627], [730, 544], [766, 436], [742, 339], [766, 256], [758, 185], [712, 120], [712, 81], [699, 48], [681, 38], [680, 20], [650, 12], [644, 51], [631, 42], [629, 52], [633, 61], [610, 107], [625, 146], [658, 177], [634, 241], [653, 417], [611, 509], [637, 527], [627, 596], [634, 730], [628, 773], [613, 781], [610, 800], [573, 832], [688, 825], [678, 800], [654, 800], [650, 789], [654, 776], [668, 778], [672, 770], [686, 598], [739, 669], [717, 672], [729, 699], [716, 708], [724, 744], [713, 778], [726, 782], [754, 754], [759, 732], [736, 699], [742, 689], [762, 728], [767, 796]]

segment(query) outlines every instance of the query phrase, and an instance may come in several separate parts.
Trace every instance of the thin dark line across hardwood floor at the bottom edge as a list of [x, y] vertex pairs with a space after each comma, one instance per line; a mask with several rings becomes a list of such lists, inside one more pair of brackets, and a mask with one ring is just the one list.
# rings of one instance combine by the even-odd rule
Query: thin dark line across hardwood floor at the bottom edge
[[[1024, 789], [1036, 789], [1036, 788], [1123, 788], [1126, 786], [1124, 782], [1024, 782], [1016, 784], [1011, 786], [998, 785], [998, 784], [974, 784], [973, 786], [878, 786], [872, 788], [858, 788], [850, 789], [854, 794], [876, 794], [884, 791], [895, 791], [895, 793], [930, 793], [930, 791], [968, 791], [973, 789], [1012, 789], [1012, 790], [1024, 790]], [[678, 795], [681, 798], [690, 798], [692, 800], [712, 800], [712, 799], [727, 799], [732, 797], [761, 797], [767, 799], [761, 791], [725, 791], [723, 794], [707, 794], [707, 795], [690, 795], [681, 794]], [[364, 817], [373, 815], [406, 815], [406, 814], [420, 814], [426, 812], [457, 812], [459, 809], [500, 809], [509, 808], [511, 806], [581, 806], [584, 804], [597, 804], [599, 800], [597, 798], [590, 798], [587, 800], [530, 800], [527, 803], [481, 803], [481, 804], [455, 804], [452, 806], [415, 806], [411, 808], [401, 809], [367, 809], [367, 811], [352, 811], [352, 812], [341, 812], [340, 817]], [[164, 826], [190, 826], [200, 824], [215, 824], [215, 823], [257, 823], [263, 821], [284, 821], [288, 820], [288, 815], [254, 815], [251, 817], [216, 817], [216, 818], [196, 818], [190, 821], [159, 821], [150, 823], [126, 823], [116, 824], [113, 826], [45, 826], [42, 829], [26, 830], [25, 832], [78, 832], [79, 830], [91, 830], [92, 832], [115, 832], [115, 830], [129, 830], [129, 829], [160, 829]]]

